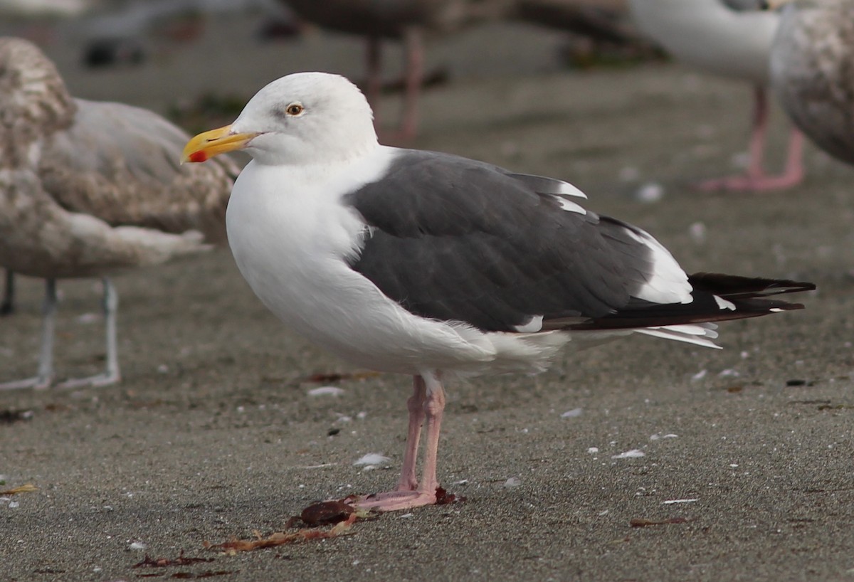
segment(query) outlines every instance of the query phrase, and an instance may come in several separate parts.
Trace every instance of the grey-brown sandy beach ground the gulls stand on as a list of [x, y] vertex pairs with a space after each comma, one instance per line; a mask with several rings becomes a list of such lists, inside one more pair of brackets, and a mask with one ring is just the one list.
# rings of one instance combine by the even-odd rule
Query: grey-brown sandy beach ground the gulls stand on
[[[360, 75], [354, 41], [261, 47], [235, 32], [248, 30], [215, 23], [201, 44], [130, 71], [84, 73], [67, 47], [53, 54], [79, 95], [161, 110], [176, 93], [249, 96], [290, 70]], [[354, 370], [274, 321], [226, 249], [126, 273], [120, 386], [0, 393], [0, 410], [32, 411], [0, 422], [0, 488], [39, 488], [0, 501], [0, 580], [851, 579], [854, 172], [810, 148], [791, 191], [700, 195], [693, 180], [735, 170], [749, 88], [676, 66], [565, 72], [557, 44], [495, 27], [434, 44], [430, 62], [450, 63], [453, 82], [425, 97], [416, 145], [569, 179], [688, 271], [814, 281], [806, 311], [724, 324], [721, 351], [629, 338], [566, 352], [536, 378], [448, 387], [440, 478], [465, 503], [224, 556], [203, 542], [392, 486], [409, 380], [308, 396], [307, 375]], [[660, 201], [635, 196], [649, 183]], [[95, 373], [97, 284], [61, 291], [57, 373]], [[35, 369], [40, 298], [41, 283], [22, 280], [18, 314], [0, 320], [0, 380]], [[631, 450], [645, 456], [614, 458]], [[391, 457], [388, 470], [354, 467], [369, 452]], [[132, 567], [181, 551], [213, 562]]]

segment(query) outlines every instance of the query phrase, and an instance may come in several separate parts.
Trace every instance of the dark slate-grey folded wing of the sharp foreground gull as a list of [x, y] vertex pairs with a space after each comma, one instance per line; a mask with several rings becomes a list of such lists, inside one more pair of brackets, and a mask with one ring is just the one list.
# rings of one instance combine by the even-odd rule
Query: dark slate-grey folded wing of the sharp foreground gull
[[407, 151], [345, 196], [368, 227], [351, 267], [412, 313], [489, 331], [648, 305], [633, 299], [654, 271], [645, 233], [567, 205], [567, 186]]

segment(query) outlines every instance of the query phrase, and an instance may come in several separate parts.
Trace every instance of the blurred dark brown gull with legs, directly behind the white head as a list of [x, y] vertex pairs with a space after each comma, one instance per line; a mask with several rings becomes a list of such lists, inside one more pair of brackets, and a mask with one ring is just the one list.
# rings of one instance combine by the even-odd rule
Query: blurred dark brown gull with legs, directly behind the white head
[[[497, 18], [509, 0], [285, 0], [301, 18], [339, 32], [366, 37], [366, 94], [377, 111], [382, 88], [383, 38], [404, 44], [405, 90], [401, 122], [395, 138], [415, 137], [418, 95], [424, 77], [424, 34], [453, 32], [462, 26]], [[378, 116], [377, 116], [378, 121]]]

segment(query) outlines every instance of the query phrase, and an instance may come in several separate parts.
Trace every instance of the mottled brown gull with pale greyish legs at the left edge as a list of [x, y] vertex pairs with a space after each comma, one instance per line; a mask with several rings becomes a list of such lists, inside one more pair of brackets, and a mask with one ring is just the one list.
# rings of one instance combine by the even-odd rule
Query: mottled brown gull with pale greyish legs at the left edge
[[65, 386], [109, 384], [120, 372], [108, 275], [225, 240], [237, 166], [181, 168], [187, 138], [145, 109], [73, 98], [35, 45], [0, 38], [0, 267], [46, 280], [38, 374], [0, 389], [50, 385], [56, 279], [103, 278], [106, 370]]

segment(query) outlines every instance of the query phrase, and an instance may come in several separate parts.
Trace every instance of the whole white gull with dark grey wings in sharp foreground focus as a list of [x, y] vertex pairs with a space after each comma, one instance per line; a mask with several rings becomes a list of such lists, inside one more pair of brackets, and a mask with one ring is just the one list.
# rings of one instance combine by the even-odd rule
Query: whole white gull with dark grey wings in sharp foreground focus
[[[633, 332], [713, 347], [712, 322], [801, 308], [808, 282], [688, 276], [644, 230], [585, 210], [569, 183], [380, 145], [360, 90], [328, 73], [261, 89], [184, 160], [243, 149], [225, 224], [237, 267], [291, 329], [413, 377], [401, 478], [361, 507], [436, 503], [443, 384], [545, 370]], [[424, 426], [424, 469], [417, 479]]]

